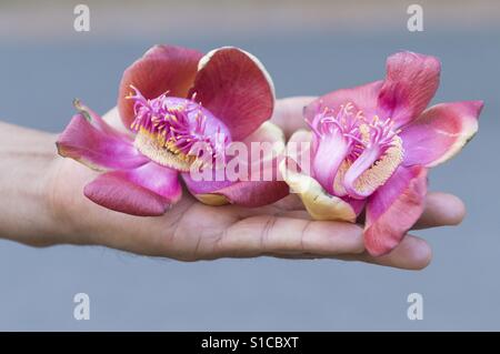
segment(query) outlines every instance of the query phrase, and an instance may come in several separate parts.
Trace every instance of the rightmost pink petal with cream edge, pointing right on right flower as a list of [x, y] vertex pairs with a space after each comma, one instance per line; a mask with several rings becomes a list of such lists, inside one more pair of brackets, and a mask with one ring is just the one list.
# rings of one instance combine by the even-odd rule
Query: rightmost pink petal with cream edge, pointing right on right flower
[[478, 131], [482, 105], [482, 101], [463, 101], [426, 110], [400, 134], [404, 164], [430, 168], [457, 154]]

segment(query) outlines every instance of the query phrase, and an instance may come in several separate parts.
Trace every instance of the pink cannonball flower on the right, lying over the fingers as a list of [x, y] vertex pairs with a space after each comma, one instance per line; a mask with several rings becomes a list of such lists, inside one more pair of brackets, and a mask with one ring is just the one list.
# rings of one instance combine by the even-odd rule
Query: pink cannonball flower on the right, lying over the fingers
[[390, 55], [383, 81], [309, 104], [310, 131], [296, 132], [289, 145], [310, 148], [290, 150], [288, 163], [280, 164], [314, 219], [356, 222], [364, 210], [364, 244], [372, 255], [391, 251], [422, 214], [428, 169], [456, 155], [478, 131], [482, 101], [426, 109], [439, 77], [434, 57]]

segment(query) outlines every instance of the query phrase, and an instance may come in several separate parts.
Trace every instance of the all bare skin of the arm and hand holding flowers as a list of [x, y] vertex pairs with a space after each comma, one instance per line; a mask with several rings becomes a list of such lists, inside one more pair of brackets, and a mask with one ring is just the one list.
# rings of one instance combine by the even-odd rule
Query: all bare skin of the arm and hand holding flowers
[[[286, 135], [304, 128], [302, 108], [312, 98], [277, 102], [272, 121]], [[124, 129], [117, 110], [104, 119]], [[32, 246], [102, 245], [180, 261], [219, 257], [339, 259], [420, 270], [429, 244], [406, 235], [391, 253], [364, 251], [362, 226], [312, 221], [297, 195], [264, 208], [208, 206], [184, 191], [163, 216], [138, 218], [103, 209], [82, 190], [97, 173], [57, 154], [57, 135], [0, 122], [0, 237]], [[459, 224], [466, 213], [454, 195], [429, 193], [414, 230]]]

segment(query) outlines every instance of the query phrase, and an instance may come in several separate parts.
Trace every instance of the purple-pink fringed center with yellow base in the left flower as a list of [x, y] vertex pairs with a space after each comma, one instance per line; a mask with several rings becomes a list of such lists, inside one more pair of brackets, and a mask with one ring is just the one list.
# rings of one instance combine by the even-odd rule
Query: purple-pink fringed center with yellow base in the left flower
[[228, 128], [200, 103], [162, 94], [146, 99], [139, 90], [134, 101], [134, 145], [152, 161], [187, 172], [196, 161], [224, 156], [231, 138]]

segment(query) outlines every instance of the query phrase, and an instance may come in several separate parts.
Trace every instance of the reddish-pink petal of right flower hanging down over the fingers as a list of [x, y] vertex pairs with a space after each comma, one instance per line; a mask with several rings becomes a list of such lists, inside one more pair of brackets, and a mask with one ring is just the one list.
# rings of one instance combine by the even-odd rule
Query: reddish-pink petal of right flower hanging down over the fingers
[[367, 204], [364, 245], [371, 255], [390, 252], [423, 212], [427, 169], [400, 166]]

